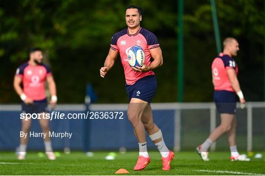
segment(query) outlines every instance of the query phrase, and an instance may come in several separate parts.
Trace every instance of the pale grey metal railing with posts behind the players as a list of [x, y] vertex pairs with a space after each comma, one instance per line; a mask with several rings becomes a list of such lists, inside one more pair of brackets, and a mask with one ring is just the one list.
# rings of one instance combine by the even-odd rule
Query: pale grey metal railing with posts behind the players
[[[153, 110], [175, 110], [175, 129], [174, 129], [174, 150], [181, 150], [181, 110], [210, 110], [210, 132], [216, 128], [216, 108], [214, 103], [152, 103]], [[128, 104], [91, 104], [90, 110], [127, 110]], [[237, 108], [240, 108], [239, 103]], [[252, 109], [253, 108], [265, 108], [265, 102], [247, 102], [247, 151], [252, 151]], [[0, 104], [0, 111], [2, 110], [21, 110], [20, 105], [14, 104]], [[55, 110], [86, 110], [84, 104], [61, 104], [57, 105]], [[215, 143], [212, 144], [211, 150], [214, 151], [216, 148]]]

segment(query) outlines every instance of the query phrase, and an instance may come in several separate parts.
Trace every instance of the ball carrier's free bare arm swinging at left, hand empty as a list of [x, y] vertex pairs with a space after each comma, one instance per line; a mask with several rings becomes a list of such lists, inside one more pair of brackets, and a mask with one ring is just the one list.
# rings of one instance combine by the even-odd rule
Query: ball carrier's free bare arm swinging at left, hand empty
[[118, 50], [114, 51], [112, 48], [109, 48], [108, 55], [106, 57], [104, 66], [100, 68], [101, 77], [104, 78], [108, 70], [112, 68], [112, 66], [114, 65], [117, 59], [118, 53], [119, 53]]

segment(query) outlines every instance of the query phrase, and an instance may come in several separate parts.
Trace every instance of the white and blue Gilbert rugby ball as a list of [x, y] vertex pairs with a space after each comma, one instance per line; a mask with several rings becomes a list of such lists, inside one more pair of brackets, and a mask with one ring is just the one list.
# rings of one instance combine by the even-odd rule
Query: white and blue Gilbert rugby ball
[[128, 51], [128, 63], [130, 66], [143, 66], [145, 60], [144, 51], [140, 46], [134, 45]]

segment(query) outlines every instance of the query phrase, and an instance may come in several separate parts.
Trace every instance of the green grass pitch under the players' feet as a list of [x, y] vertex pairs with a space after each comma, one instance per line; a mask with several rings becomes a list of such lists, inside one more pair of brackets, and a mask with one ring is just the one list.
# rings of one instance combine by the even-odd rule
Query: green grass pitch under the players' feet
[[0, 152], [0, 175], [115, 175], [124, 168], [128, 175], [265, 175], [265, 153], [263, 158], [253, 156], [248, 162], [230, 161], [228, 152], [210, 153], [210, 161], [202, 161], [195, 152], [175, 153], [171, 170], [162, 171], [159, 152], [149, 152], [151, 163], [142, 171], [133, 171], [137, 152], [117, 153], [115, 160], [105, 160], [108, 152], [95, 152], [88, 157], [82, 152], [61, 153], [50, 161], [46, 155], [28, 152], [26, 160], [19, 161], [14, 152]]

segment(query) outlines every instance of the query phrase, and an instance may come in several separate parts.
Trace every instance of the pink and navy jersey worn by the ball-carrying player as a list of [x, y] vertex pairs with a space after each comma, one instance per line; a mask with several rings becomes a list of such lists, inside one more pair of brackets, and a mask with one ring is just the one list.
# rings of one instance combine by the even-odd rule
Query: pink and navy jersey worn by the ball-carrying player
[[152, 70], [147, 72], [138, 72], [132, 70], [128, 63], [127, 54], [133, 45], [138, 45], [143, 48], [145, 54], [144, 64], [149, 66], [151, 64], [150, 49], [159, 47], [159, 42], [155, 34], [142, 27], [133, 35], [128, 33], [127, 28], [113, 35], [110, 46], [114, 51], [118, 50], [120, 52], [121, 63], [124, 68], [125, 79], [128, 85], [133, 85], [142, 77], [155, 74]]

